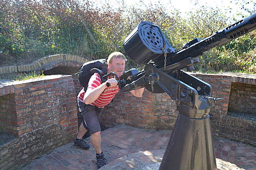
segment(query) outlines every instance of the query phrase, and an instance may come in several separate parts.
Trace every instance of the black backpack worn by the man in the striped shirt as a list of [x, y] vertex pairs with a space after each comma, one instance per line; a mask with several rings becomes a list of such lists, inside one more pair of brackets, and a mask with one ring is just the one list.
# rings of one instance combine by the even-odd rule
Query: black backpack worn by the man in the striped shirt
[[104, 82], [102, 77], [108, 74], [108, 64], [105, 59], [93, 60], [81, 65], [76, 75], [84, 89], [87, 89], [89, 80], [95, 72], [99, 74], [101, 82]]

